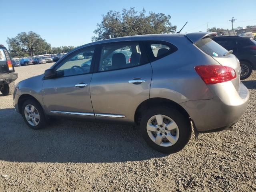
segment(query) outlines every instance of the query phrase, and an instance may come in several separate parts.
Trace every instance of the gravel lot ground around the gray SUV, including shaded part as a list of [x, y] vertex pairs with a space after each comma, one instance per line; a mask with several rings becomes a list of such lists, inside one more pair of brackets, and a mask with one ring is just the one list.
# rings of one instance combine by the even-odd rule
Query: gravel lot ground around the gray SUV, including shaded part
[[[52, 64], [15, 68], [17, 81]], [[132, 126], [55, 120], [31, 130], [0, 94], [0, 191], [255, 191], [256, 71], [250, 103], [232, 131], [194, 134], [171, 155]]]

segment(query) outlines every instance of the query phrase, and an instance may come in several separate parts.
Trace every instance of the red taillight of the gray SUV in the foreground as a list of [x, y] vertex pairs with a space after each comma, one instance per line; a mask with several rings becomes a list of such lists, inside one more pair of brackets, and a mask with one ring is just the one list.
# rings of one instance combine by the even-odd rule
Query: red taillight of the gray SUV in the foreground
[[227, 66], [200, 65], [196, 66], [195, 70], [206, 84], [221, 83], [236, 78], [235, 70]]

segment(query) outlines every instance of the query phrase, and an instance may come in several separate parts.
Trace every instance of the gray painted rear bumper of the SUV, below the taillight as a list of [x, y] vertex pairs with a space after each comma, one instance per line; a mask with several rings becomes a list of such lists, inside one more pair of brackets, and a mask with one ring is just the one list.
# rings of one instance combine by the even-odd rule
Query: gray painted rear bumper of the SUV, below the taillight
[[214, 98], [209, 100], [190, 100], [180, 105], [194, 121], [198, 132], [216, 132], [229, 128], [244, 114], [248, 102], [249, 91], [240, 82], [236, 91], [232, 82], [224, 82], [209, 86]]

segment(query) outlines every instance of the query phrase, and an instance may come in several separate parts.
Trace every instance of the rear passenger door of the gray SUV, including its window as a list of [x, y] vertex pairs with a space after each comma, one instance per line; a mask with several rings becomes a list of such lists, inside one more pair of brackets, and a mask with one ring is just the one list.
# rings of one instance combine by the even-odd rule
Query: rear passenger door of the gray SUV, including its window
[[133, 122], [136, 108], [149, 98], [151, 77], [141, 43], [103, 44], [90, 84], [95, 118]]

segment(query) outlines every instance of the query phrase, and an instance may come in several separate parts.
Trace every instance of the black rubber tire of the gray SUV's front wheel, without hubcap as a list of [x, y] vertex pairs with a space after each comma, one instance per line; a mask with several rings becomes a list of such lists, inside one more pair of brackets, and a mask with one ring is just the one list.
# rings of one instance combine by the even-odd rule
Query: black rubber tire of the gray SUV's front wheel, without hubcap
[[[24, 109], [25, 109], [25, 107], [26, 107], [27, 105], [29, 105], [29, 104], [35, 106], [36, 109], [37, 109], [37, 111], [38, 111], [38, 113], [39, 113], [40, 121], [39, 121], [39, 123], [38, 123], [37, 126], [32, 126], [32, 125], [30, 125], [30, 124], [28, 123], [28, 121], [26, 120], [26, 117], [25, 117], [25, 114], [24, 114]], [[22, 117], [23, 117], [24, 121], [26, 122], [26, 124], [27, 124], [30, 128], [35, 129], [35, 130], [38, 130], [38, 129], [44, 128], [44, 126], [46, 125], [46, 118], [45, 118], [45, 115], [44, 115], [44, 111], [43, 111], [41, 105], [40, 105], [37, 101], [35, 101], [35, 100], [33, 100], [33, 99], [26, 100], [26, 101], [23, 103], [23, 105], [22, 105], [22, 111], [21, 111], [21, 112], [22, 112]]]

